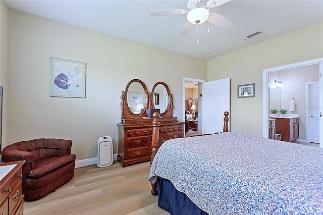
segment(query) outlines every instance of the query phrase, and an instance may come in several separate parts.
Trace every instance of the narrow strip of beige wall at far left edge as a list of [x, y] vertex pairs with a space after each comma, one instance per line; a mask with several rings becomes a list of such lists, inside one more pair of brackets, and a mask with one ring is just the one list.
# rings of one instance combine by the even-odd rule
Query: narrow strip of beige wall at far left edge
[[8, 39], [9, 11], [6, 3], [0, 0], [0, 85], [4, 87], [2, 116], [2, 148], [8, 142]]

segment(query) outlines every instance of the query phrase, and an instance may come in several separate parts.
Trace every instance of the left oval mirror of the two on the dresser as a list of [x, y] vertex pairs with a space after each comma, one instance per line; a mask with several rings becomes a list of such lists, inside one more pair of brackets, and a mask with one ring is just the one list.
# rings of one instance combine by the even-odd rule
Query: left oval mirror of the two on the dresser
[[125, 104], [132, 115], [143, 115], [148, 102], [148, 90], [139, 79], [129, 81], [125, 90]]

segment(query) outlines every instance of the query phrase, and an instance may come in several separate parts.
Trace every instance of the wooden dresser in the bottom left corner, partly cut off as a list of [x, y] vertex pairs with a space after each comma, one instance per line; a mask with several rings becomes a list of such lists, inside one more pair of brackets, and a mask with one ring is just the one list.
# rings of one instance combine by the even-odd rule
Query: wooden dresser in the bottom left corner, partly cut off
[[20, 214], [24, 213], [24, 195], [22, 194], [22, 165], [25, 161], [9, 162], [1, 164], [3, 167], [16, 165], [4, 178], [1, 179], [0, 188], [0, 214]]

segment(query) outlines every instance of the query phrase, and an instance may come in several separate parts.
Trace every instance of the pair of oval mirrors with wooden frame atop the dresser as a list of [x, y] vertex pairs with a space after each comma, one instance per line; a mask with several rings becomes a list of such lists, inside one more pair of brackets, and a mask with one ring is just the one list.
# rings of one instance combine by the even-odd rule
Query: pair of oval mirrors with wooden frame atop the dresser
[[160, 117], [173, 117], [173, 94], [164, 82], [155, 83], [150, 93], [141, 80], [133, 79], [122, 91], [121, 100], [122, 123], [145, 118], [146, 109], [160, 109]]

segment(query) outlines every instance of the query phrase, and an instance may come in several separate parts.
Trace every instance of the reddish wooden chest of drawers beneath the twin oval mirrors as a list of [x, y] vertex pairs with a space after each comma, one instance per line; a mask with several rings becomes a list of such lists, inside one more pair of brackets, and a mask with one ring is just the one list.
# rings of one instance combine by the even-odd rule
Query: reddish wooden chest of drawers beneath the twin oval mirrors
[[[152, 119], [139, 124], [118, 124], [118, 160], [123, 167], [150, 160], [152, 141]], [[184, 136], [184, 122], [165, 121], [159, 124], [160, 145], [173, 138]]]

